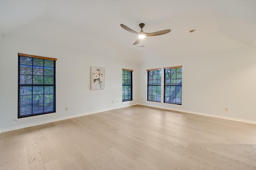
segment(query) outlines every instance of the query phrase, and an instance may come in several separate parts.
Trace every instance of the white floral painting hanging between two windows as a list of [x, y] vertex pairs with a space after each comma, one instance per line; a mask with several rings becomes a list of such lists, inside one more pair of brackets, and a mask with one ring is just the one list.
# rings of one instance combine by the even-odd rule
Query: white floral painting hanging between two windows
[[91, 67], [91, 90], [104, 89], [104, 68]]

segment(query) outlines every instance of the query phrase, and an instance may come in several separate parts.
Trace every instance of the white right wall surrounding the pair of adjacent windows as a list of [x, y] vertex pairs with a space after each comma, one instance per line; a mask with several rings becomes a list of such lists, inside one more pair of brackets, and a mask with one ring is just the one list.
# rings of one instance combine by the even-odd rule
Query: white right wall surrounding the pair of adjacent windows
[[[256, 123], [255, 46], [201, 55], [154, 51], [145, 56], [161, 57], [139, 65], [141, 104]], [[183, 66], [182, 106], [147, 102], [146, 70], [180, 65]], [[225, 111], [225, 107], [229, 110]]]

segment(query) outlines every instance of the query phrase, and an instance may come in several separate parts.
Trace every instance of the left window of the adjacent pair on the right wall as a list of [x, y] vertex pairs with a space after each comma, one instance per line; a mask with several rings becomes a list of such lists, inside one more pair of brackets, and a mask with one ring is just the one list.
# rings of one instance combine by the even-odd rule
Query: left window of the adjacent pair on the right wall
[[148, 93], [147, 100], [161, 102], [161, 68], [148, 71]]

